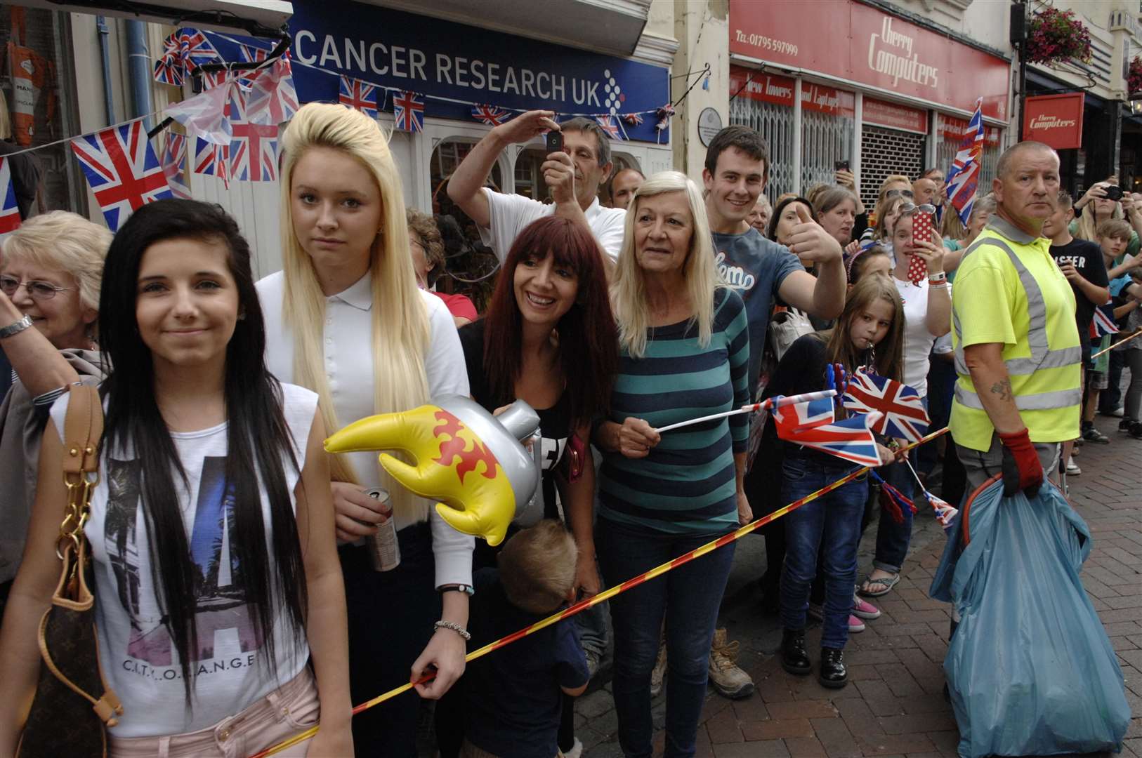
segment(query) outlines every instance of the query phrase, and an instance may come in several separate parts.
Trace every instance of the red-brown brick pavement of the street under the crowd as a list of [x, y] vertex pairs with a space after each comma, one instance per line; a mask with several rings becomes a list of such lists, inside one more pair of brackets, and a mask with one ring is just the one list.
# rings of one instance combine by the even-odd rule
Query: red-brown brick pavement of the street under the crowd
[[[1071, 502], [1094, 537], [1083, 582], [1118, 652], [1134, 716], [1121, 755], [1142, 758], [1142, 441], [1118, 433], [1117, 419], [1100, 417], [1096, 424], [1113, 442], [1083, 447], [1083, 475], [1070, 477]], [[790, 676], [779, 666], [780, 629], [757, 611], [761, 540], [742, 540], [723, 621], [731, 638], [740, 640], [739, 663], [757, 692], [737, 702], [710, 692], [699, 727], [699, 756], [955, 758], [959, 737], [942, 694], [949, 611], [927, 597], [943, 539], [934, 521], [923, 516], [917, 515], [903, 578], [880, 598], [884, 615], [850, 638], [845, 660], [851, 682], [839, 691], [826, 690], [812, 676]], [[875, 534], [875, 527], [866, 533], [862, 566], [869, 563]], [[811, 629], [811, 651], [819, 638], [819, 628]], [[660, 695], [653, 711], [659, 729], [664, 709]], [[580, 697], [577, 715], [587, 758], [622, 755], [606, 685]], [[658, 755], [662, 736], [659, 731]]]

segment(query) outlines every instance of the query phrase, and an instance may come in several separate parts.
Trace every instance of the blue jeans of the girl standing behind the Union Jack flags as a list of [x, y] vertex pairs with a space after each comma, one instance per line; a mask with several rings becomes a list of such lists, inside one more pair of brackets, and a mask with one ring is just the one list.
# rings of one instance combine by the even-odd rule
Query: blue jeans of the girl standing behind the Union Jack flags
[[[837, 463], [786, 457], [781, 498], [799, 500], [853, 470], [839, 458]], [[849, 642], [849, 612], [853, 607], [856, 581], [856, 546], [860, 521], [868, 498], [868, 477], [811, 500], [791, 510], [786, 523], [786, 561], [781, 572], [781, 624], [797, 631], [805, 628], [809, 591], [817, 574], [818, 553], [823, 554], [825, 622], [821, 647], [841, 650]], [[673, 661], [671, 661], [673, 666]]]

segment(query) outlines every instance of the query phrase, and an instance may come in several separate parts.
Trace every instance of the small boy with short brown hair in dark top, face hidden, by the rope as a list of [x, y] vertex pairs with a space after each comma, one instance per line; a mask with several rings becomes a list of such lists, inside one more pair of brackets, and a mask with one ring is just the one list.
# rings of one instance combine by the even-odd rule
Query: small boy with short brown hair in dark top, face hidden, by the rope
[[[574, 599], [576, 545], [556, 521], [509, 539], [498, 568], [474, 578], [472, 648], [539, 621]], [[563, 696], [582, 694], [587, 658], [571, 620], [541, 629], [468, 666], [461, 758], [560, 756]], [[577, 744], [578, 749], [579, 745]]]

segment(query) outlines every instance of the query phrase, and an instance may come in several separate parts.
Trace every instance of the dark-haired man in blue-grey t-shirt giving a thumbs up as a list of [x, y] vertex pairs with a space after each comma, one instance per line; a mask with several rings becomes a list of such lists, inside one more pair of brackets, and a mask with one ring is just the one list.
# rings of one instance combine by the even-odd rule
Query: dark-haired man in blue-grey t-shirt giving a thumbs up
[[[762, 136], [748, 127], [733, 126], [710, 140], [702, 170], [718, 272], [746, 301], [751, 396], [757, 394], [773, 298], [821, 318], [836, 318], [844, 309], [847, 284], [841, 244], [799, 205], [801, 224], [794, 228], [789, 248], [766, 240], [749, 225], [749, 212], [769, 180], [769, 164]], [[818, 275], [806, 272], [803, 263], [815, 264]], [[746, 494], [758, 514], [771, 513], [780, 505], [772, 498], [773, 492], [780, 492], [780, 482], [774, 486], [764, 479], [759, 467], [746, 477]], [[763, 492], [769, 493], [767, 500], [762, 499]], [[785, 556], [785, 524], [777, 523], [775, 529], [763, 533], [771, 564], [766, 578], [773, 586], [766, 595], [772, 599], [777, 598], [780, 559]], [[715, 640], [719, 639], [729, 645], [721, 630], [715, 634]], [[754, 691], [749, 675], [733, 662], [731, 650], [716, 642], [710, 651], [709, 677], [714, 688], [726, 697], [746, 697]]]

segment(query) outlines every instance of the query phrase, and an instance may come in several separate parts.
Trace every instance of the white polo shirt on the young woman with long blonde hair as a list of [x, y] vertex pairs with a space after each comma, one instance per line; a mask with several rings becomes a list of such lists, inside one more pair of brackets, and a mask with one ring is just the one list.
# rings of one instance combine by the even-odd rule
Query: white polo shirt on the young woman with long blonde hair
[[[266, 366], [280, 381], [293, 382], [293, 330], [282, 316], [282, 295], [286, 277], [282, 272], [258, 282], [258, 299], [266, 321]], [[420, 298], [428, 311], [432, 337], [425, 353], [425, 372], [428, 376], [428, 395], [465, 395], [468, 372], [464, 363], [464, 348], [456, 331], [456, 322], [444, 303], [420, 290]], [[344, 292], [325, 298], [325, 329], [323, 334], [325, 374], [329, 392], [340, 424], [347, 425], [372, 416], [372, 292], [369, 274]], [[401, 324], [394, 324], [400, 329]], [[333, 432], [329, 430], [330, 434]], [[379, 481], [377, 453], [371, 451], [346, 453], [353, 469], [364, 486], [376, 486]], [[449, 526], [435, 508], [428, 508], [433, 533], [433, 554], [436, 557], [436, 586], [472, 583], [472, 550], [475, 541]], [[396, 516], [396, 529], [411, 524]]]

